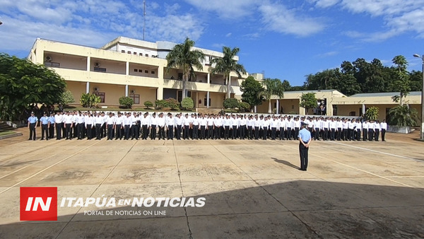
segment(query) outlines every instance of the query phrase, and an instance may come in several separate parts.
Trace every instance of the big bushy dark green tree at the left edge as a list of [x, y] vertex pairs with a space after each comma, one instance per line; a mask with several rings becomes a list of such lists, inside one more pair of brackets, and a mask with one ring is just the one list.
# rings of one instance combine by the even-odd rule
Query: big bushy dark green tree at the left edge
[[59, 103], [66, 83], [59, 74], [26, 59], [0, 53], [0, 116], [23, 119], [30, 104]]

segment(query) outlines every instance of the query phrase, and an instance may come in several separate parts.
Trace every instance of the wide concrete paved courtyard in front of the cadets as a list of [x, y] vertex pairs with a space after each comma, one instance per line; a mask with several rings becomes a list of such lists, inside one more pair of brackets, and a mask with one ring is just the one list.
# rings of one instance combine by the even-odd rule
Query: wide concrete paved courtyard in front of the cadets
[[[296, 141], [0, 141], [0, 238], [423, 238], [424, 143], [387, 138], [312, 141], [307, 172]], [[206, 201], [58, 206], [57, 221], [20, 221], [20, 187], [57, 187], [58, 204]]]

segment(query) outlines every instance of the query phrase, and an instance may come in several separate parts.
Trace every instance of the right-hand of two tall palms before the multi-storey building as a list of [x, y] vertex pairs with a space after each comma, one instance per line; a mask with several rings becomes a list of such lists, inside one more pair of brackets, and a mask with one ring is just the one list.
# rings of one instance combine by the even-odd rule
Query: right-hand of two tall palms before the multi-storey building
[[231, 72], [235, 72], [239, 78], [242, 78], [242, 74], [246, 74], [245, 66], [238, 64], [235, 60], [235, 56], [240, 51], [239, 48], [235, 47], [230, 49], [230, 47], [223, 47], [223, 58], [213, 58], [211, 64], [216, 64], [212, 69], [211, 73], [221, 73], [224, 74], [225, 81], [227, 82], [227, 98], [230, 98], [230, 86], [231, 86]]

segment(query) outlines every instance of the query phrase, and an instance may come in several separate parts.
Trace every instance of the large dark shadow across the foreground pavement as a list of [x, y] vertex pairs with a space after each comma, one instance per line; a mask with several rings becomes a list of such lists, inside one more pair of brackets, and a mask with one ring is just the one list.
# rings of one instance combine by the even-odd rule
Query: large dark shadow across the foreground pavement
[[[226, 183], [234, 185], [236, 182], [220, 182], [220, 185]], [[199, 194], [192, 193], [191, 196], [205, 197], [203, 207], [123, 206], [100, 210], [101, 214], [111, 211], [112, 216], [87, 216], [84, 210], [96, 208], [84, 208], [76, 215], [59, 216], [54, 222], [22, 221], [1, 225], [0, 238], [424, 237], [422, 189], [311, 180], [270, 185], [265, 180], [257, 183], [257, 187], [239, 184], [236, 185], [241, 187], [239, 190], [202, 193], [217, 189], [205, 189], [206, 182], [195, 182], [185, 190], [196, 192], [196, 188], [202, 189]], [[140, 186], [140, 191], [146, 187], [136, 186]], [[183, 183], [182, 187], [184, 191], [187, 185]], [[119, 199], [117, 192], [118, 189], [110, 195]], [[64, 210], [58, 209], [62, 214]], [[114, 215], [122, 214], [122, 211], [141, 211], [141, 214], [144, 211], [166, 211], [166, 216]]]

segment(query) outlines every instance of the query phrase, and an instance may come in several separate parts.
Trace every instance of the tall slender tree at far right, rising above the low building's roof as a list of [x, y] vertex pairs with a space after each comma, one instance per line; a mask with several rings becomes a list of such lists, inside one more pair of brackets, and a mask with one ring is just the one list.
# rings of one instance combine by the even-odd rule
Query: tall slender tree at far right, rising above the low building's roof
[[396, 65], [395, 68], [397, 69], [397, 71], [394, 74], [394, 78], [396, 78], [395, 84], [399, 91], [400, 105], [404, 105], [403, 98], [408, 95], [409, 91], [411, 91], [409, 75], [406, 71], [406, 66], [408, 66], [408, 62], [406, 61], [406, 58], [402, 55], [394, 57], [391, 62]]

